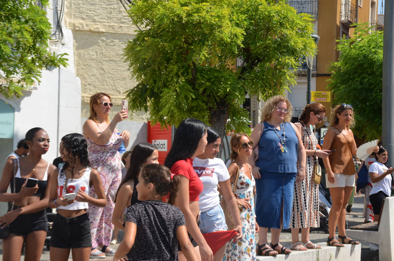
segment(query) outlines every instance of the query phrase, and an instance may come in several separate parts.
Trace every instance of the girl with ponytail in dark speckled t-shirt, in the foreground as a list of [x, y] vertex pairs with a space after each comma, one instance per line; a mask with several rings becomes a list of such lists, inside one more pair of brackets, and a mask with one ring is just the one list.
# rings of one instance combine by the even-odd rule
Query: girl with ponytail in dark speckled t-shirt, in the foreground
[[[113, 260], [178, 260], [178, 242], [187, 260], [196, 261], [184, 215], [173, 206], [180, 177], [160, 164], [144, 166], [138, 175], [138, 200], [127, 209], [125, 237]], [[170, 193], [169, 202], [161, 198]]]

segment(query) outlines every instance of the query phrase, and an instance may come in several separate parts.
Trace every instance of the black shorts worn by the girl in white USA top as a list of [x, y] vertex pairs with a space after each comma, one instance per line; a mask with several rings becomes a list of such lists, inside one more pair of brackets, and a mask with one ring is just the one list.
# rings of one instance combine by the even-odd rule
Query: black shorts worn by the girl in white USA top
[[49, 245], [56, 248], [90, 248], [92, 237], [87, 213], [73, 218], [56, 214]]

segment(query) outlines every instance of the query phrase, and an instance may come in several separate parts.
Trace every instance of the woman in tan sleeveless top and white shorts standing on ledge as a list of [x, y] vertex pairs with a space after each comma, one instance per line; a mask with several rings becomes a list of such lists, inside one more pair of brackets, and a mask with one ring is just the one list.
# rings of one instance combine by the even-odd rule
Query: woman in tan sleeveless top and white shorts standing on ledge
[[[346, 204], [353, 191], [356, 169], [353, 155], [357, 146], [353, 132], [349, 127], [354, 123], [353, 107], [342, 103], [331, 113], [329, 129], [324, 136], [323, 149], [336, 150], [328, 158], [323, 158], [326, 168], [326, 186], [330, 189], [333, 206], [328, 218], [329, 237], [327, 246], [344, 246], [343, 244], [360, 244], [346, 236]], [[335, 238], [335, 228], [338, 225], [338, 237]]]

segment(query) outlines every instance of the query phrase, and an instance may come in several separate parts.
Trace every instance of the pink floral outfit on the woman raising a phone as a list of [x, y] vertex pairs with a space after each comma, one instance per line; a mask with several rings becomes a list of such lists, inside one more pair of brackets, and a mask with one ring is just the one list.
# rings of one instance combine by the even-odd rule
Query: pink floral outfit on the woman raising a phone
[[[112, 239], [112, 213], [115, 207], [113, 199], [122, 179], [122, 163], [118, 151], [121, 146], [121, 137], [114, 131], [106, 145], [95, 144], [89, 138], [86, 142], [90, 164], [92, 168], [99, 172], [107, 196], [106, 207], [96, 207], [89, 204], [87, 210], [92, 235], [92, 248], [97, 248], [99, 244], [109, 246]], [[89, 190], [89, 196], [97, 198], [93, 186]]]

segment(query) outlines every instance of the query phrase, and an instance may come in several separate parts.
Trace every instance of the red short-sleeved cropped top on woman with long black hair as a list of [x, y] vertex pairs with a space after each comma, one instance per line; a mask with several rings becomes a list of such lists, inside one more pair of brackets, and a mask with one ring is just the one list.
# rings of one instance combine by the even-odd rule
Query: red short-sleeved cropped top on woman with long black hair
[[197, 173], [193, 170], [193, 160], [191, 158], [178, 160], [171, 167], [171, 173], [183, 175], [189, 179], [189, 201], [198, 201], [204, 186]]

